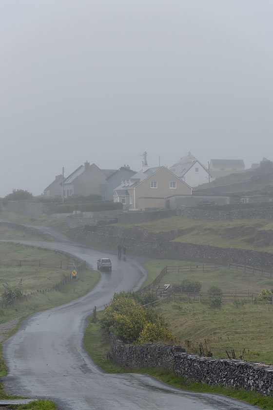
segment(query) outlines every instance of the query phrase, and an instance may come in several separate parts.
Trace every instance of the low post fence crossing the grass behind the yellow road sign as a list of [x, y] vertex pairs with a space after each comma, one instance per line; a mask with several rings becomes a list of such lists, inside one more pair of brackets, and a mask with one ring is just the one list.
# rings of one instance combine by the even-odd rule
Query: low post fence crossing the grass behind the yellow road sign
[[[61, 267], [61, 263], [60, 263], [60, 267]], [[66, 269], [71, 269], [71, 271], [75, 269], [77, 271], [77, 273], [81, 273], [81, 272], [83, 272], [83, 270], [86, 269], [86, 261], [78, 261], [77, 260], [76, 264], [71, 262], [71, 263], [67, 264]], [[66, 284], [70, 283], [73, 280], [74, 280], [74, 276], [72, 275], [72, 273], [69, 273], [68, 275], [65, 275], [63, 277], [63, 279], [60, 282], [58, 282], [56, 285], [54, 285], [53, 287], [50, 287], [48, 289], [37, 289], [37, 292], [31, 292], [31, 293], [28, 293], [26, 295], [22, 295], [22, 296], [19, 296], [17, 298], [13, 298], [12, 300], [10, 300], [8, 302], [1, 301], [0, 308], [2, 308], [2, 309], [11, 308], [11, 307], [17, 305], [20, 302], [30, 300], [30, 298], [34, 295], [44, 294], [44, 293], [47, 293], [47, 292], [60, 291]]]

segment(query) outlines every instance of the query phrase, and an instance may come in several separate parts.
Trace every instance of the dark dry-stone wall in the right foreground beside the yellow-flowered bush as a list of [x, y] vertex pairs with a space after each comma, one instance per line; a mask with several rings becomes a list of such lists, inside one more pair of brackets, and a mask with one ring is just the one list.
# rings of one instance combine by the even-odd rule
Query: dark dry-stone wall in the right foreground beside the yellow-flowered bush
[[123, 368], [163, 367], [210, 386], [223, 385], [273, 394], [273, 366], [245, 360], [214, 359], [184, 352], [180, 346], [124, 345], [111, 338], [113, 359]]

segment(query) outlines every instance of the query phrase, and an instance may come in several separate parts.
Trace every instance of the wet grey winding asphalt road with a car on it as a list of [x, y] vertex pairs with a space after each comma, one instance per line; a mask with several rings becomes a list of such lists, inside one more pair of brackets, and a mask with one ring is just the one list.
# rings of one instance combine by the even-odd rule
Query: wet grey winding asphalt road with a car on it
[[[48, 230], [49, 228], [42, 228]], [[171, 388], [140, 374], [106, 374], [83, 349], [86, 318], [94, 306], [102, 309], [120, 290], [136, 290], [145, 280], [144, 258], [90, 249], [53, 232], [60, 242], [22, 241], [69, 252], [96, 269], [97, 259], [110, 256], [112, 272], [102, 272], [98, 285], [87, 295], [58, 308], [27, 318], [18, 332], [3, 344], [8, 374], [2, 378], [10, 394], [55, 401], [60, 410], [172, 409], [250, 410], [254, 406], [212, 394]]]

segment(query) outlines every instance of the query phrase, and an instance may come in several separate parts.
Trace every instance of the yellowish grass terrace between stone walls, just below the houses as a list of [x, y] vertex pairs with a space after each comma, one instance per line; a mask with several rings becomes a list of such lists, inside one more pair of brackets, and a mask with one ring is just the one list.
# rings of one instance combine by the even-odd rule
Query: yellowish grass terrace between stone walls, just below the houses
[[[132, 228], [133, 224], [118, 223], [115, 226]], [[273, 246], [255, 247], [254, 229], [273, 229], [272, 219], [233, 219], [233, 220], [195, 220], [184, 216], [171, 216], [156, 221], [142, 222], [140, 226], [151, 232], [169, 232], [183, 229], [184, 232], [175, 242], [198, 245], [236, 247], [273, 252]], [[229, 228], [238, 228], [230, 234]]]

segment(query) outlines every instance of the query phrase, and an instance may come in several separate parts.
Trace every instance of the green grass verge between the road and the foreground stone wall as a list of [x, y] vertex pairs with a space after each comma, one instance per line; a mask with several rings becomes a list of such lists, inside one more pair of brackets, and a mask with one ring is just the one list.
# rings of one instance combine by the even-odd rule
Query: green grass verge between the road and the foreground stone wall
[[177, 377], [170, 370], [161, 368], [122, 369], [112, 360], [110, 343], [100, 328], [99, 321], [103, 317], [103, 314], [103, 311], [97, 313], [98, 321], [96, 323], [93, 322], [92, 316], [89, 317], [89, 325], [83, 342], [85, 350], [90, 354], [95, 364], [103, 371], [107, 373], [148, 374], [177, 389], [198, 393], [221, 394], [258, 406], [264, 410], [273, 410], [273, 397], [262, 396], [255, 391], [237, 390], [234, 388], [224, 388], [223, 386], [209, 386], [205, 383], [192, 382], [183, 377]]

